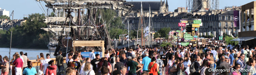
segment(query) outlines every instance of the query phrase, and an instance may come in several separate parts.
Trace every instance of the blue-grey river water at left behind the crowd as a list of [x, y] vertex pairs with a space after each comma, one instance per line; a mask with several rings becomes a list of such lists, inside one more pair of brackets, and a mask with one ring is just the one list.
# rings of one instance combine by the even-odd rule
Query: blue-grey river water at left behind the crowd
[[[9, 50], [10, 48], [0, 48], [0, 55], [2, 56], [2, 58], [4, 56], [7, 56], [9, 58]], [[28, 58], [29, 60], [35, 60], [37, 59], [37, 55], [39, 55], [40, 57], [40, 53], [42, 52], [44, 55], [44, 58], [46, 58], [46, 54], [50, 54], [49, 49], [24, 49], [24, 48], [11, 48], [11, 59], [12, 59], [12, 55], [15, 52], [21, 52], [23, 51], [23, 53], [25, 54], [27, 52], [28, 54]], [[54, 52], [51, 52], [51, 58], [55, 58], [53, 56]]]

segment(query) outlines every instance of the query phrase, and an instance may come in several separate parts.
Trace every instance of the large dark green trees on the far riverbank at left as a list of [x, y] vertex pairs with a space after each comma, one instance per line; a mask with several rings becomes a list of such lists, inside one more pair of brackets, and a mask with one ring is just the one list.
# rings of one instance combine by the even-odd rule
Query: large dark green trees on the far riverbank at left
[[[40, 29], [46, 27], [46, 24], [44, 23], [44, 14], [35, 13], [24, 19], [27, 21], [23, 23], [22, 26], [16, 26], [13, 28], [12, 47], [47, 48], [47, 33]], [[0, 43], [0, 45], [9, 47], [11, 29], [5, 31], [5, 34], [1, 35], [3, 35], [3, 37], [0, 39], [0, 41], [4, 43]]]

